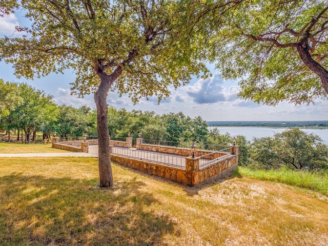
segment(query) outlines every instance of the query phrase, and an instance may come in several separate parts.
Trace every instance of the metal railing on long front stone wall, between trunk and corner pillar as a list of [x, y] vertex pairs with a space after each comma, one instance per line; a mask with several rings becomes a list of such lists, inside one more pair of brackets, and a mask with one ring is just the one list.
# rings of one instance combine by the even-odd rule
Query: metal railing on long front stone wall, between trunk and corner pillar
[[111, 154], [138, 158], [140, 160], [154, 161], [161, 165], [178, 168], [186, 167], [185, 157], [179, 157], [170, 154], [160, 154], [151, 151], [133, 150], [120, 147], [111, 147]]

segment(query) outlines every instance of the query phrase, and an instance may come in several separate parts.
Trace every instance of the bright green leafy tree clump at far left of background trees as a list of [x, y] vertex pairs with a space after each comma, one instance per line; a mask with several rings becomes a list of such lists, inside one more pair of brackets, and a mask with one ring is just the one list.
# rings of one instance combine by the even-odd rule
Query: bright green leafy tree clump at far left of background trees
[[33, 132], [50, 132], [57, 119], [57, 106], [51, 95], [24, 83], [3, 83], [3, 80], [0, 80], [0, 91], [0, 124], [3, 128], [24, 131], [28, 142]]

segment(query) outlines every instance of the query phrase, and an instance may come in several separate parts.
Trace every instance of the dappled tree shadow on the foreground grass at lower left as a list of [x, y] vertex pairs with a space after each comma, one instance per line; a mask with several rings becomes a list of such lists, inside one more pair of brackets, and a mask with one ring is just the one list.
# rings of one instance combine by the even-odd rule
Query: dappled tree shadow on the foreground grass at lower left
[[96, 188], [97, 180], [0, 177], [0, 245], [165, 245], [179, 234], [142, 181]]

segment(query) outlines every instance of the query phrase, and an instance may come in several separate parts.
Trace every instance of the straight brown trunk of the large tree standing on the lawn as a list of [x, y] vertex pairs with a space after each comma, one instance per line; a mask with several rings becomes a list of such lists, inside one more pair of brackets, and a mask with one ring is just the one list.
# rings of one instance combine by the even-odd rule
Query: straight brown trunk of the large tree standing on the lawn
[[94, 101], [97, 107], [97, 131], [98, 131], [98, 168], [99, 186], [113, 187], [113, 173], [111, 167], [109, 132], [108, 132], [108, 106], [107, 92], [99, 89], [94, 94]]

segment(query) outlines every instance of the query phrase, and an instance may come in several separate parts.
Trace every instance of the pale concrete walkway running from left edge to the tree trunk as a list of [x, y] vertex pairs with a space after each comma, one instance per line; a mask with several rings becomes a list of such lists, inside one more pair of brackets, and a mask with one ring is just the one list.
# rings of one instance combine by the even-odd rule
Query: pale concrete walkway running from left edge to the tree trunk
[[71, 156], [83, 156], [83, 157], [98, 157], [98, 146], [89, 146], [89, 153], [84, 152], [62, 152], [62, 153], [19, 153], [19, 154], [2, 154], [0, 157], [71, 157]]

